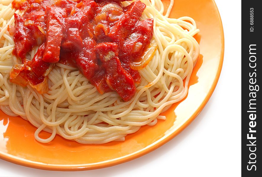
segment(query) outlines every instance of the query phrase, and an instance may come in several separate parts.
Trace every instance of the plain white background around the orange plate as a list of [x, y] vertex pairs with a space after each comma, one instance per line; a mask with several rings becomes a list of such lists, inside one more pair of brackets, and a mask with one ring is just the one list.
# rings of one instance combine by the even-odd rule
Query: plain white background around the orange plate
[[138, 159], [92, 171], [44, 171], [0, 160], [0, 176], [241, 176], [241, 1], [216, 4], [225, 34], [221, 76], [203, 111], [173, 140]]

